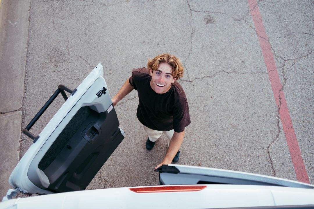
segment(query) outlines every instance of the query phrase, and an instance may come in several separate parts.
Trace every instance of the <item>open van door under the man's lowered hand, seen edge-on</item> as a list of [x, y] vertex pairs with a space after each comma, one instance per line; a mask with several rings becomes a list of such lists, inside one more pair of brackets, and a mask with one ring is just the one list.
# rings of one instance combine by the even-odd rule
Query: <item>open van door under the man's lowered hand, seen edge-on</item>
[[303, 182], [216, 168], [169, 164], [156, 171], [159, 171], [159, 185], [234, 184], [314, 189], [314, 185]]

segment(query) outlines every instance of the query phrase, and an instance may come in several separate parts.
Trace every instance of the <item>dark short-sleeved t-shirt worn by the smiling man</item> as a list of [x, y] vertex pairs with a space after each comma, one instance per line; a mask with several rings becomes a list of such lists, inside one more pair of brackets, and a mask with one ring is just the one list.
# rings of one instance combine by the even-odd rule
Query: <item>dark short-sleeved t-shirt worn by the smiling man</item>
[[182, 86], [171, 84], [169, 91], [157, 94], [150, 86], [148, 68], [132, 70], [130, 84], [138, 91], [136, 116], [146, 127], [157, 131], [182, 132], [191, 123], [189, 106]]

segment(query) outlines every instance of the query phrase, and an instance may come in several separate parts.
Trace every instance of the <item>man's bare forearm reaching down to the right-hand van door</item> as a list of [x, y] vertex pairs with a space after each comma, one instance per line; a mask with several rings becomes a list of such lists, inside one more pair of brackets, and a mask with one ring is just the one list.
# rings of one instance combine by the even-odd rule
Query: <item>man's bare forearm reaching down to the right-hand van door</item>
[[161, 165], [168, 165], [172, 162], [173, 158], [175, 157], [175, 155], [177, 154], [178, 150], [181, 147], [184, 138], [184, 132], [185, 131], [182, 131], [180, 133], [178, 132], [173, 133], [167, 153], [162, 162], [159, 165], [157, 165], [155, 169], [159, 168]]

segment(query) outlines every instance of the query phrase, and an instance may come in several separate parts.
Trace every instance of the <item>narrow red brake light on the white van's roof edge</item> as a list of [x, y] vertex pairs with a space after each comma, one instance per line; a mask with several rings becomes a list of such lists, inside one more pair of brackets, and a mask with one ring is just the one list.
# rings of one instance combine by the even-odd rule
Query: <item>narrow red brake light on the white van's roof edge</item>
[[184, 186], [150, 186], [141, 188], [131, 188], [129, 190], [136, 193], [148, 192], [171, 192], [171, 191], [200, 191], [204, 189], [205, 185], [184, 185]]

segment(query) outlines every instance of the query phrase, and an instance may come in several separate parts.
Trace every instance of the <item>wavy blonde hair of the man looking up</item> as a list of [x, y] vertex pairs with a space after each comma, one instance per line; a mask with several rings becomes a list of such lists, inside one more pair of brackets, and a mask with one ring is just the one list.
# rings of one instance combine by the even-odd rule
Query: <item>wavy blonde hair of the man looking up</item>
[[179, 80], [183, 77], [183, 66], [181, 60], [174, 55], [164, 53], [161, 55], [157, 55], [154, 59], [148, 59], [147, 67], [152, 69], [153, 71], [157, 70], [159, 67], [159, 63], [167, 63], [172, 68], [172, 76]]

